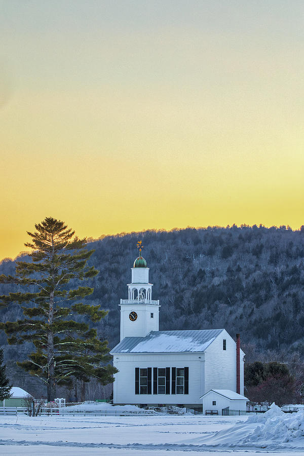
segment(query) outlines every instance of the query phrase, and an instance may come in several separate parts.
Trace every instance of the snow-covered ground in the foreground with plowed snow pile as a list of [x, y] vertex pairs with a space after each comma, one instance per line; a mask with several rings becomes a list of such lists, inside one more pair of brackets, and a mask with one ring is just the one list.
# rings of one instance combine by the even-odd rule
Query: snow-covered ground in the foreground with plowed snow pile
[[304, 454], [304, 412], [204, 416], [0, 416], [1, 455]]

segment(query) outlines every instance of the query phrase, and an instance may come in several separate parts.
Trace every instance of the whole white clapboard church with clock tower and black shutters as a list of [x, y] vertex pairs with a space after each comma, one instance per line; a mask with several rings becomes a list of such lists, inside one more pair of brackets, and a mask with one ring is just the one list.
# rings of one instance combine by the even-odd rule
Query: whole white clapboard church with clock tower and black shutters
[[110, 351], [119, 370], [113, 404], [203, 404], [219, 414], [218, 405], [223, 403], [246, 409], [239, 334], [236, 343], [225, 329], [159, 331], [161, 306], [152, 299], [152, 286], [140, 249], [128, 299], [120, 302], [120, 343]]

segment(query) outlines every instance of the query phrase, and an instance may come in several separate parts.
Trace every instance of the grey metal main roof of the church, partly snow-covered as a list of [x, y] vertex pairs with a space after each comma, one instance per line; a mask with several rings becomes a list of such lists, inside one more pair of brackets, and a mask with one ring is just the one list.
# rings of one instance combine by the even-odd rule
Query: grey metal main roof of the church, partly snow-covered
[[151, 331], [146, 337], [125, 337], [110, 353], [204, 352], [222, 331]]

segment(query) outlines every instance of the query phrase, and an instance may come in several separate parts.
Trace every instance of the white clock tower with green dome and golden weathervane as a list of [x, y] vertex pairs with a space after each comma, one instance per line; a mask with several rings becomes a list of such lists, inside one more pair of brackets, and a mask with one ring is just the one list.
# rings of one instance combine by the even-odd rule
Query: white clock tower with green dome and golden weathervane
[[128, 299], [121, 299], [121, 340], [125, 337], [145, 337], [159, 330], [159, 300], [151, 299], [152, 284], [149, 268], [141, 256], [141, 241], [137, 243], [139, 256], [133, 264], [132, 282], [128, 284]]

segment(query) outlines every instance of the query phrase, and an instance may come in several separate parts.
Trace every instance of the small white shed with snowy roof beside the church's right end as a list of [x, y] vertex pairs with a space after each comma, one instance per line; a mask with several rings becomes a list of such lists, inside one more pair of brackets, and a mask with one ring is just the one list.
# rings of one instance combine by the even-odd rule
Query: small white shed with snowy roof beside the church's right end
[[[249, 399], [231, 390], [210, 390], [200, 398], [203, 404], [203, 413], [212, 412], [222, 414], [222, 409], [229, 407], [230, 410], [246, 411], [246, 402]], [[217, 413], [216, 413], [217, 412]]]

